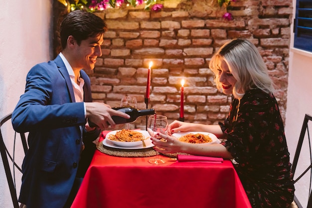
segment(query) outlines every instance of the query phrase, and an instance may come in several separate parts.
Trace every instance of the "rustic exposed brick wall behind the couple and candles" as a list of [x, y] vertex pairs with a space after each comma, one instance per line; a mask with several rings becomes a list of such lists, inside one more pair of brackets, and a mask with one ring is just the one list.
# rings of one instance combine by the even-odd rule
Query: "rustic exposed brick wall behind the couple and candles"
[[[241, 37], [262, 54], [285, 120], [292, 0], [237, 0], [231, 3], [231, 21], [222, 19], [225, 9], [215, 1], [165, 0], [160, 12], [142, 7], [95, 12], [109, 30], [103, 55], [88, 72], [94, 101], [114, 107], [131, 95], [138, 108], [146, 108], [147, 68], [153, 61], [149, 107], [169, 122], [178, 119], [184, 78], [185, 121], [216, 124], [227, 116], [231, 97], [215, 88], [209, 59], [224, 42]], [[145, 129], [145, 122], [140, 118], [132, 128]]]

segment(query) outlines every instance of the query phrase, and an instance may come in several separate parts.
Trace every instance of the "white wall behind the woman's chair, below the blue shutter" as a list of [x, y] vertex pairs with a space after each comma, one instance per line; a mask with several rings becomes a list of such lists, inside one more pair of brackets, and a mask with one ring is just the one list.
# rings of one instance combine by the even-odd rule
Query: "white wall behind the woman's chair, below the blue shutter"
[[[296, 0], [293, 0], [293, 6], [293, 17], [295, 18]], [[291, 154], [291, 162], [294, 159], [305, 114], [312, 115], [312, 53], [293, 48], [293, 45], [294, 33], [292, 32], [285, 123], [286, 139]], [[307, 166], [310, 165], [308, 145], [309, 144], [306, 142], [303, 145], [302, 157], [299, 159], [295, 178], [297, 173], [304, 170], [303, 167], [307, 168]], [[296, 196], [300, 197], [300, 200], [303, 200], [303, 207], [306, 207], [310, 178], [305, 177], [303, 181], [305, 183], [299, 181], [298, 184], [295, 185], [295, 193]]]

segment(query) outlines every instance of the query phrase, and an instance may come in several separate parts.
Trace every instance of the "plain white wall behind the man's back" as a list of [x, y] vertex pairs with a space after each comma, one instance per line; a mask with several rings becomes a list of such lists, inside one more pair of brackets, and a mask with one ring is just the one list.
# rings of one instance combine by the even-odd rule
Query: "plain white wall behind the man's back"
[[[52, 2], [0, 1], [0, 117], [13, 111], [19, 96], [24, 92], [28, 70], [34, 64], [48, 61], [53, 56]], [[2, 160], [0, 207], [12, 207]]]

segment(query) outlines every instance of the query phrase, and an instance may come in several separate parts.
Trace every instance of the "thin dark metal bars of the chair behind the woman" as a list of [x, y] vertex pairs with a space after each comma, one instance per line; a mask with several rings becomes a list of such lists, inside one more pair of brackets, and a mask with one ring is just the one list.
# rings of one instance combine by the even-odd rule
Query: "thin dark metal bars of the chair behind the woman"
[[[308, 126], [308, 122], [312, 121], [312, 116], [310, 116], [309, 114], [305, 115], [305, 119], [302, 125], [302, 129], [301, 129], [301, 133], [299, 136], [299, 141], [298, 141], [298, 145], [297, 145], [297, 149], [296, 149], [296, 153], [295, 153], [295, 157], [294, 157], [294, 161], [293, 161], [293, 165], [292, 165], [292, 173], [295, 175], [295, 171], [296, 171], [296, 167], [298, 164], [298, 160], [299, 160], [299, 156], [300, 156], [300, 152], [301, 152], [301, 148], [306, 136], [306, 132], [308, 135], [308, 142], [309, 142], [309, 150], [310, 150], [310, 166], [297, 178], [295, 179], [295, 183], [298, 182], [309, 170], [310, 170], [310, 188], [309, 188], [309, 200], [308, 200], [308, 205], [307, 208], [312, 208], [312, 195], [311, 195], [311, 185], [312, 185], [312, 148], [311, 148], [311, 140], [310, 140], [310, 133], [309, 133], [309, 126]], [[295, 195], [294, 198], [295, 203], [297, 204], [298, 208], [303, 208], [303, 206], [300, 204], [298, 198]]]

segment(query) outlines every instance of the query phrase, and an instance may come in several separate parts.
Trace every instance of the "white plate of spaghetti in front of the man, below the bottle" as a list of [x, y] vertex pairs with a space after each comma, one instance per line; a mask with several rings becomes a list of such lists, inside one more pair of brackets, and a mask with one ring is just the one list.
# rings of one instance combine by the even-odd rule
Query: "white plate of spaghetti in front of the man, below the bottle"
[[[109, 132], [105, 136], [103, 144], [120, 149], [144, 149], [154, 146], [150, 138], [151, 136], [147, 131], [122, 129]], [[146, 147], [143, 147], [142, 140], [144, 140]]]

